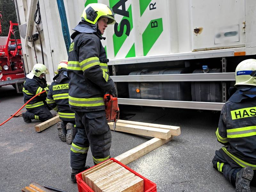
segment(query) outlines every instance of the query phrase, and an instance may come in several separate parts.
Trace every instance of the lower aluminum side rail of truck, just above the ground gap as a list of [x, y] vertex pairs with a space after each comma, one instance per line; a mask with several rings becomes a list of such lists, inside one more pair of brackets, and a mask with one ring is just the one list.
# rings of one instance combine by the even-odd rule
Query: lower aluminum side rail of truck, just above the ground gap
[[220, 111], [225, 103], [118, 98], [118, 104]]

